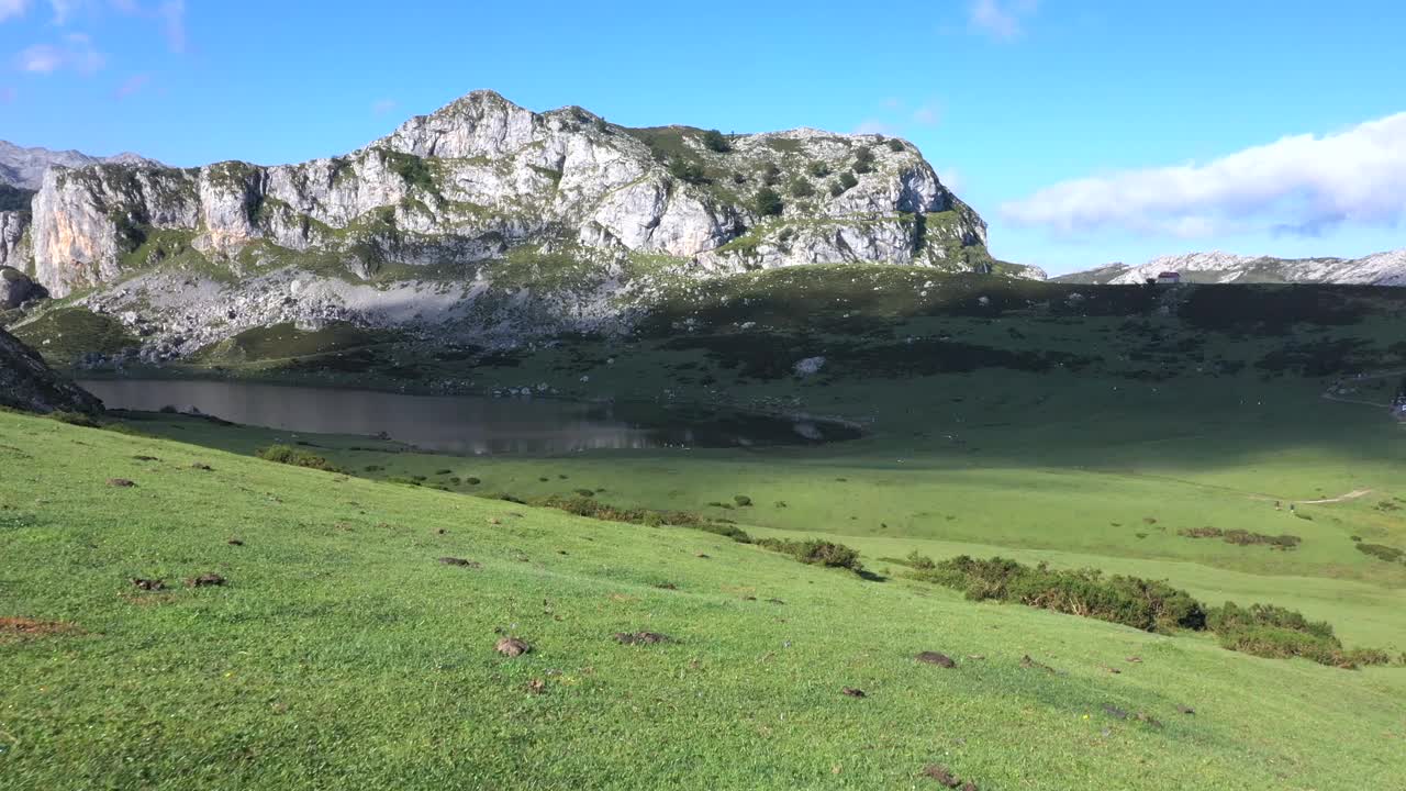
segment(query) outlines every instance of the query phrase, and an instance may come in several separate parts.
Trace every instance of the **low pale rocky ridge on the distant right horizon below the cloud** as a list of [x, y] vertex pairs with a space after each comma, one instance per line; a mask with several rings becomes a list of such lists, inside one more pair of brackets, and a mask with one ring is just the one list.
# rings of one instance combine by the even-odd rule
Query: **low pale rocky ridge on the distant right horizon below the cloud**
[[1339, 283], [1406, 286], [1406, 249], [1358, 259], [1279, 259], [1223, 252], [1163, 256], [1142, 266], [1114, 263], [1054, 277], [1062, 283], [1143, 283], [1161, 272], [1180, 272], [1189, 283]]

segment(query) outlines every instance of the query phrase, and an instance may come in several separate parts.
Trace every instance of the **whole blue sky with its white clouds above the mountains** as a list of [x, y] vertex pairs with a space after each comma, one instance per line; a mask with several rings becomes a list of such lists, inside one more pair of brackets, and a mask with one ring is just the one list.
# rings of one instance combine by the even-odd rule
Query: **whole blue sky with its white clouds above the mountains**
[[[1050, 272], [1406, 248], [1406, 4], [0, 0], [0, 138], [342, 153], [472, 89], [614, 122], [882, 131]], [[673, 7], [676, 6], [676, 7]]]

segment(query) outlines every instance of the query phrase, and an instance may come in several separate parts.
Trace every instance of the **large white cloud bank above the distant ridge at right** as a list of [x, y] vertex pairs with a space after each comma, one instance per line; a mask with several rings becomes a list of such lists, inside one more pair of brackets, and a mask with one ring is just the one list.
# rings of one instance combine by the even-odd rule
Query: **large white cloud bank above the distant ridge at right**
[[1205, 165], [1063, 182], [1002, 214], [1062, 235], [1109, 228], [1201, 238], [1319, 235], [1341, 224], [1406, 221], [1406, 113], [1323, 137], [1295, 135]]

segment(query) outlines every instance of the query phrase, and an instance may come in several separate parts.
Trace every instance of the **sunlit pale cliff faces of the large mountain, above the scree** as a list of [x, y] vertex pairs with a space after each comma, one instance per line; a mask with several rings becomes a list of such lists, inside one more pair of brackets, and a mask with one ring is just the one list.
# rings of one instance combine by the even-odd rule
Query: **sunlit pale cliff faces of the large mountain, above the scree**
[[710, 139], [576, 107], [531, 113], [491, 91], [340, 158], [53, 167], [34, 200], [35, 274], [60, 297], [159, 262], [176, 235], [217, 265], [259, 245], [256, 258], [328, 253], [352, 273], [541, 243], [706, 272], [990, 260], [986, 225], [901, 141], [814, 129]]

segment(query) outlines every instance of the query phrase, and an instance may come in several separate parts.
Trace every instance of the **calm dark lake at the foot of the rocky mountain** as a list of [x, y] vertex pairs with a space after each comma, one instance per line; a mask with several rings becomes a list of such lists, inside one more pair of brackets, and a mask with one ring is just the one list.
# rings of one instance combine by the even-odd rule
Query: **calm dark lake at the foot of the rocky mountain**
[[191, 407], [245, 425], [304, 434], [354, 434], [444, 453], [561, 453], [603, 448], [818, 445], [853, 439], [851, 426], [652, 404], [582, 404], [547, 398], [404, 396], [236, 381], [80, 381], [108, 408]]

